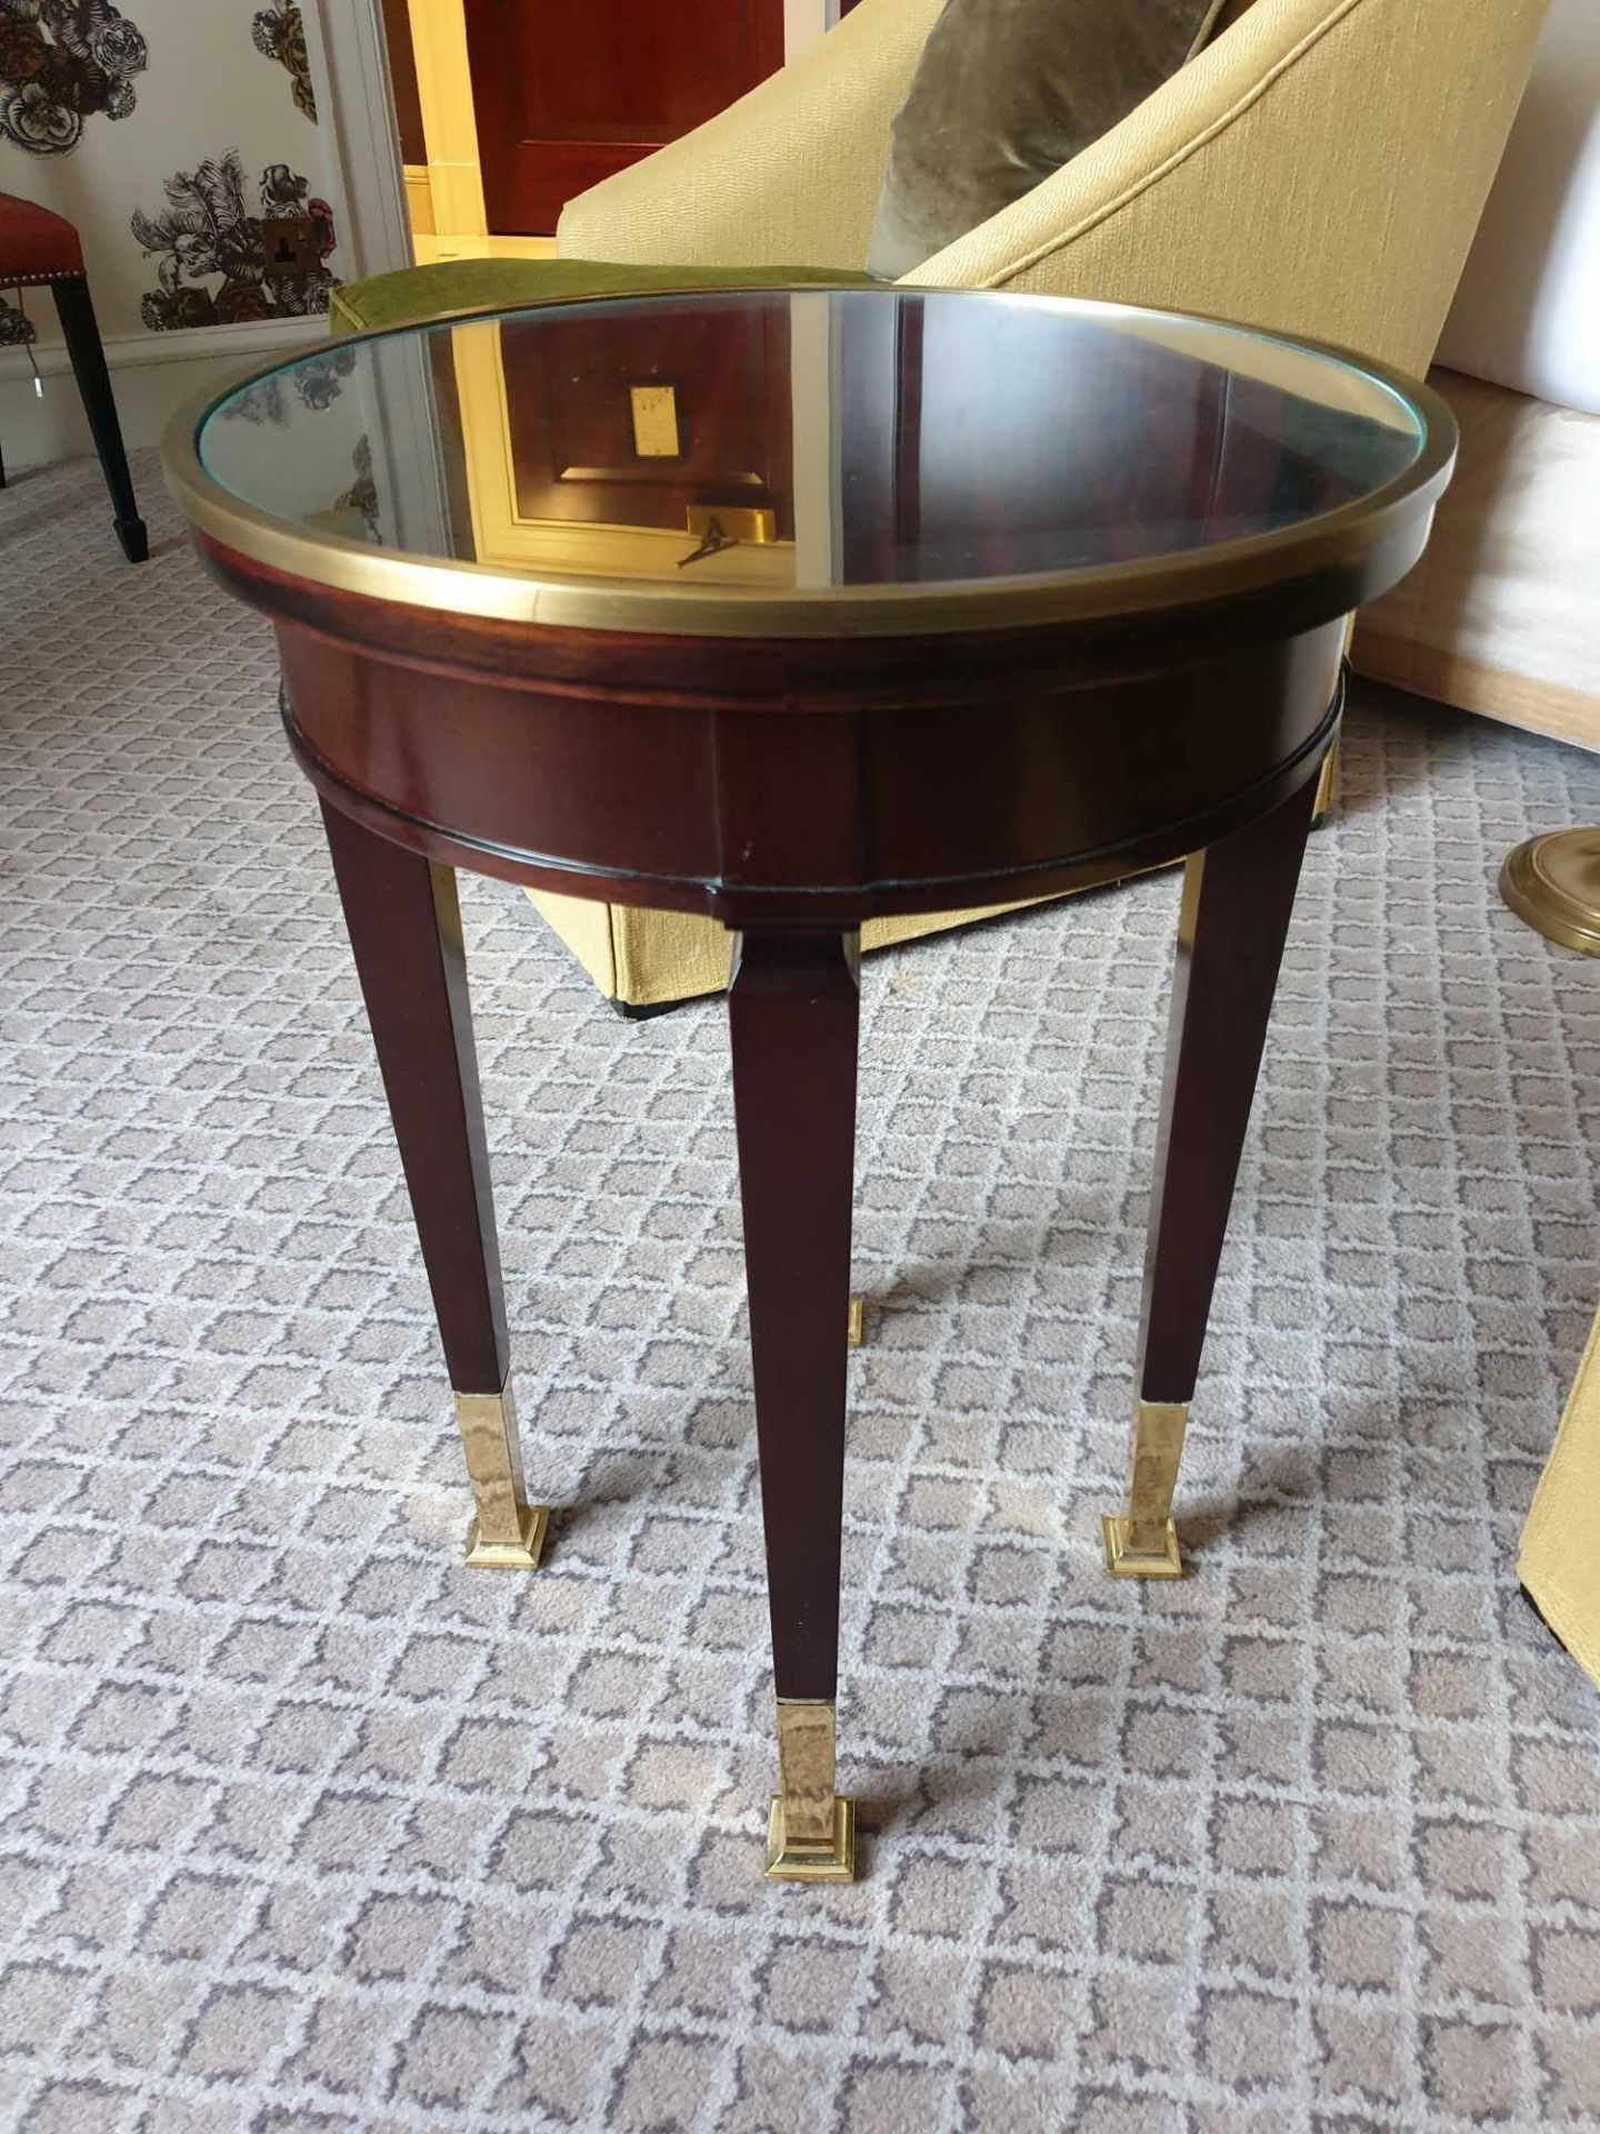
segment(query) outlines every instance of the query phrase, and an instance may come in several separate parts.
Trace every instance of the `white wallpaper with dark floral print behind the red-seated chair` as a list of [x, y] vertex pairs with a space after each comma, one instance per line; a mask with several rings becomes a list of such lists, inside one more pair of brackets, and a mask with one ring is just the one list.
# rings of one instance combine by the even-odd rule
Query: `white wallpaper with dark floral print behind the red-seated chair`
[[0, 190], [77, 224], [107, 337], [324, 312], [324, 173], [299, 0], [0, 0]]

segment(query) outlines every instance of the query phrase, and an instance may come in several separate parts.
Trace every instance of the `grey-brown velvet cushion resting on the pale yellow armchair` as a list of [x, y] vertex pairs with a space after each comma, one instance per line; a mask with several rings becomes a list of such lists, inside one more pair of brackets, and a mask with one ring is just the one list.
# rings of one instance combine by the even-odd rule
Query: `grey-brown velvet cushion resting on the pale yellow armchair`
[[1109, 132], [1222, 0], [945, 0], [892, 128], [866, 265], [894, 282]]

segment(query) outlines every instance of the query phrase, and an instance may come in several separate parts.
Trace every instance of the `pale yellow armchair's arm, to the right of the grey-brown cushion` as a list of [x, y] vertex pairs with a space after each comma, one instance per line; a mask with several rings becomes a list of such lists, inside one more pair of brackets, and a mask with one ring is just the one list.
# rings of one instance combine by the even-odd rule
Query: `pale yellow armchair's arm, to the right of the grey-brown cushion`
[[1423, 371], [1547, 0], [1257, 0], [909, 282], [1101, 297]]

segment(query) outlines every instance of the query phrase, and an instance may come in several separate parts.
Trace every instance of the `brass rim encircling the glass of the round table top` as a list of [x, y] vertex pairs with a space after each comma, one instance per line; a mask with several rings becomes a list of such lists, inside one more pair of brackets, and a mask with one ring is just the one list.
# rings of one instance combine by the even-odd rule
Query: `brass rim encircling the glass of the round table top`
[[[1013, 299], [1011, 290], [960, 290], [885, 282], [881, 286], [847, 284], [851, 297], [868, 301], [883, 297], [962, 297], [983, 294]], [[1449, 403], [1431, 386], [1406, 371], [1361, 356], [1333, 341], [1306, 335], [1267, 333], [1229, 318], [1203, 312], [1175, 312], [1156, 305], [1107, 303], [1084, 297], [1035, 297], [1028, 305], [1052, 305], [1077, 316], [1118, 316], [1175, 320], [1180, 324], [1218, 327], [1246, 339], [1271, 341], [1303, 350], [1310, 356], [1338, 363], [1376, 384], [1387, 386], [1419, 423], [1417, 459], [1391, 482], [1355, 497], [1333, 512], [1306, 519], [1299, 525], [1269, 534], [1250, 534], [1210, 548], [1186, 548], [1175, 555], [1139, 557], [1126, 563], [1101, 563], [1062, 572], [1028, 572], [1007, 578], [943, 578], [924, 585], [847, 585], [798, 587], [787, 593], [742, 591], [719, 587], [710, 593], [663, 587], [644, 578], [585, 578], [578, 574], [529, 576], [499, 566], [469, 563], [446, 557], [420, 557], [397, 548], [375, 548], [341, 534], [311, 531], [286, 519], [275, 519], [237, 497], [211, 476], [198, 452], [207, 418], [252, 384], [262, 384], [294, 363], [309, 361], [326, 348], [356, 348], [365, 341], [386, 341], [399, 335], [431, 333], [442, 327], [493, 324], [523, 312], [570, 309], [580, 305], [640, 303], [659, 299], [674, 303], [685, 297], [828, 297], [832, 284], [770, 286], [725, 284], [674, 290], [606, 290], [589, 297], [553, 297], [544, 303], [489, 305], [461, 312], [439, 312], [427, 320], [380, 327], [371, 333], [348, 333], [311, 341], [290, 356], [256, 363], [220, 386], [207, 386], [186, 401], [162, 433], [162, 472], [166, 487], [192, 527], [222, 548], [262, 563], [269, 570], [335, 593], [356, 593], [380, 602], [399, 602], [437, 615], [467, 615], [484, 621], [529, 623], [567, 630], [612, 630], [638, 636], [713, 636], [713, 638], [879, 638], [932, 636], [966, 630], [1009, 630], [1041, 623], [1114, 621], [1141, 612], [1199, 608], [1242, 593], [1269, 591], [1316, 570], [1333, 570], [1367, 553], [1382, 538], [1385, 523], [1431, 508], [1451, 480], [1457, 452], [1457, 425]]]

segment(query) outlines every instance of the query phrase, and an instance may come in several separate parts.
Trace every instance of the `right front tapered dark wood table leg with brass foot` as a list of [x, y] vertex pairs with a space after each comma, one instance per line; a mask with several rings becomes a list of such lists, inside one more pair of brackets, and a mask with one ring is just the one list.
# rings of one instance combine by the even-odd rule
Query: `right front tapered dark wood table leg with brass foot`
[[1103, 1526], [1114, 1577], [1182, 1577], [1171, 1519], [1188, 1404], [1250, 1120], [1316, 773], [1184, 873], [1135, 1366], [1133, 1475]]

